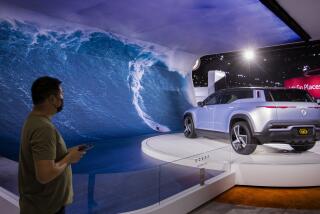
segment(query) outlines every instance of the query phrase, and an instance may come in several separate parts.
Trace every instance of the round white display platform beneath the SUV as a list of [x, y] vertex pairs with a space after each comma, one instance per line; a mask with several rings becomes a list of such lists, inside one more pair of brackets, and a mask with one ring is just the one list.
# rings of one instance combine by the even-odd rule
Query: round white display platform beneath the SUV
[[[230, 144], [183, 134], [151, 137], [142, 142], [147, 155], [166, 162], [236, 174], [236, 184], [270, 187], [320, 186], [320, 142], [297, 153], [289, 145], [258, 146], [251, 155], [239, 155]], [[187, 158], [189, 157], [189, 158]]]

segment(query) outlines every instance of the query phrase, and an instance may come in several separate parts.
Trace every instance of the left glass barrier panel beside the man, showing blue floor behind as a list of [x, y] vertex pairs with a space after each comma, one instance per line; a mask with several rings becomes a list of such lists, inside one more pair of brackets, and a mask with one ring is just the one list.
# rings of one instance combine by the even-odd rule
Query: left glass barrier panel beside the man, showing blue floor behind
[[78, 175], [69, 213], [121, 213], [157, 204], [159, 168]]

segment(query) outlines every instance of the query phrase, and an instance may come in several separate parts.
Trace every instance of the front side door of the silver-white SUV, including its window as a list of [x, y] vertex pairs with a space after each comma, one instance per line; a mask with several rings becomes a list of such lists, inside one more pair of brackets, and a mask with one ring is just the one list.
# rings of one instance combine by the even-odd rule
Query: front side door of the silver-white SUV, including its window
[[214, 108], [217, 103], [217, 94], [210, 95], [203, 101], [203, 107], [198, 109], [197, 128], [203, 130], [213, 130]]

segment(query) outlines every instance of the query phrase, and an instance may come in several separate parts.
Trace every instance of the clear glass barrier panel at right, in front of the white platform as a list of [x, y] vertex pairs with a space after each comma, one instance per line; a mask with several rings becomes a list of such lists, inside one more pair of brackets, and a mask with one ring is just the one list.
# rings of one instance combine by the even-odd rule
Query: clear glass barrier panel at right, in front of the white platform
[[203, 152], [159, 166], [159, 201], [230, 170], [230, 147]]

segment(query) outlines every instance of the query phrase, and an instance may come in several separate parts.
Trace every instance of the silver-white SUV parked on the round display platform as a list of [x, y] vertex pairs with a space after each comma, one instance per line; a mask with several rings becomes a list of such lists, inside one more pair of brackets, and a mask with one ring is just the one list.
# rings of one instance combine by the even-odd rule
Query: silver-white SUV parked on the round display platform
[[188, 138], [229, 139], [244, 155], [265, 143], [306, 151], [320, 139], [320, 106], [298, 89], [223, 89], [186, 111], [184, 127]]

